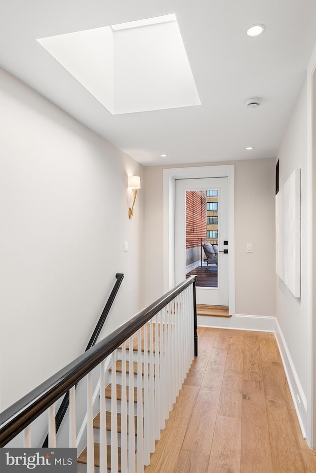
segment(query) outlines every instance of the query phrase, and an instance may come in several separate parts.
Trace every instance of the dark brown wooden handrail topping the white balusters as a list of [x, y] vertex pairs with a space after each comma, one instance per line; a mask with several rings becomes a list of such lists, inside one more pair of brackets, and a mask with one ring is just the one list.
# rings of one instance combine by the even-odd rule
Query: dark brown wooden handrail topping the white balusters
[[124, 341], [154, 317], [163, 307], [190, 285], [197, 276], [190, 276], [176, 288], [164, 294], [146, 309], [114, 330], [94, 347], [80, 355], [76, 360], [59, 370], [40, 386], [12, 404], [0, 414], [0, 447], [25, 429], [50, 405], [61, 398], [80, 379], [101, 363]]

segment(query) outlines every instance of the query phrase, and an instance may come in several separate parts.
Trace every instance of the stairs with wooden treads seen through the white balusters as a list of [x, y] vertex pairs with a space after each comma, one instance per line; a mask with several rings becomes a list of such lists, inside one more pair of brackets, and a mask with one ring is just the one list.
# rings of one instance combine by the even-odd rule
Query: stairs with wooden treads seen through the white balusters
[[[147, 340], [150, 339], [150, 324], [147, 324], [147, 337], [145, 338], [144, 335], [144, 327], [141, 328], [141, 353], [142, 353], [142, 358], [144, 358], [144, 351], [145, 351], [145, 344], [146, 344], [146, 351], [147, 355], [149, 357], [150, 351], [148, 347], [148, 343], [146, 342]], [[160, 342], [160, 327], [158, 325], [158, 346]], [[164, 329], [162, 327], [161, 334], [164, 334]], [[156, 345], [156, 330], [155, 327], [153, 328], [153, 354], [156, 353], [155, 350], [155, 345]], [[116, 401], [117, 401], [117, 434], [118, 434], [118, 472], [121, 472], [121, 449], [120, 449], [120, 443], [121, 443], [121, 432], [122, 432], [122, 416], [120, 413], [121, 410], [121, 402], [122, 402], [122, 394], [124, 387], [122, 386], [122, 375], [126, 374], [126, 389], [125, 389], [125, 399], [127, 401], [127, 408], [129, 410], [129, 402], [130, 402], [130, 388], [129, 388], [129, 381], [130, 381], [130, 375], [132, 373], [133, 375], [133, 396], [132, 402], [134, 402], [134, 413], [135, 415], [132, 416], [131, 422], [133, 422], [133, 433], [135, 433], [135, 458], [136, 458], [136, 452], [137, 452], [137, 400], [138, 400], [138, 362], [133, 361], [132, 364], [130, 364], [129, 361], [124, 361], [126, 358], [128, 358], [129, 355], [129, 346], [130, 346], [130, 341], [126, 342], [125, 347], [120, 346], [117, 350], [117, 360], [115, 363], [115, 371], [116, 371]], [[122, 356], [122, 350], [125, 350], [125, 356]], [[133, 360], [137, 359], [138, 357], [138, 337], [137, 333], [133, 335], [132, 337], [132, 351], [133, 351]], [[158, 351], [159, 353], [159, 351]], [[125, 364], [125, 368], [124, 368]], [[132, 370], [130, 370], [130, 365], [132, 366]], [[146, 371], [146, 376], [149, 376], [150, 373], [150, 363], [147, 363], [147, 369], [145, 370], [145, 365], [144, 362], [140, 364], [141, 366], [141, 385], [144, 386], [144, 371]], [[105, 389], [105, 399], [106, 399], [106, 430], [107, 430], [107, 465], [108, 465], [108, 471], [111, 472], [111, 421], [112, 421], [112, 413], [111, 413], [111, 400], [112, 400], [112, 393], [113, 393], [113, 387], [112, 387], [112, 366], [108, 368], [108, 372], [106, 373], [106, 379], [109, 380], [109, 384], [107, 385]], [[155, 373], [155, 363], [153, 364], [153, 372]], [[144, 389], [142, 389], [142, 400], [144, 403]], [[143, 406], [142, 406], [143, 410]], [[143, 419], [142, 419], [143, 422]], [[126, 415], [126, 433], [127, 436], [129, 435], [129, 416], [128, 414]], [[94, 436], [94, 466], [99, 468], [100, 467], [100, 412], [94, 417], [93, 419], [93, 436]], [[86, 465], [87, 465], [87, 447], [85, 447], [82, 452], [79, 454], [78, 457], [78, 472], [79, 473], [84, 473], [86, 472]], [[137, 471], [135, 467], [135, 471]], [[104, 472], [102, 472], [104, 473]]]

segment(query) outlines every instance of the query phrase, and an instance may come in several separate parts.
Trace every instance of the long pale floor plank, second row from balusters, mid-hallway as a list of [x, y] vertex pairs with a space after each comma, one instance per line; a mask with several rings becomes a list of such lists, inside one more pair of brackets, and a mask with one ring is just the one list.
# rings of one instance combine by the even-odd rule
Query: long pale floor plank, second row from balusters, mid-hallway
[[227, 350], [213, 348], [197, 402], [183, 441], [183, 449], [209, 454], [215, 428]]

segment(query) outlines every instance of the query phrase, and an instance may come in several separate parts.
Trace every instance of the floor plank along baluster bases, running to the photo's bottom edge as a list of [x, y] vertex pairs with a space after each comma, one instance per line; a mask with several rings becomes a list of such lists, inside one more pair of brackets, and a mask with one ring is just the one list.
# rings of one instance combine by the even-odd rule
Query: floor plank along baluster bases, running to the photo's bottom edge
[[146, 473], [174, 472], [197, 394], [196, 386], [183, 386], [170, 412], [170, 418], [166, 421], [166, 428], [156, 443], [156, 452], [151, 457], [151, 463], [145, 468]]

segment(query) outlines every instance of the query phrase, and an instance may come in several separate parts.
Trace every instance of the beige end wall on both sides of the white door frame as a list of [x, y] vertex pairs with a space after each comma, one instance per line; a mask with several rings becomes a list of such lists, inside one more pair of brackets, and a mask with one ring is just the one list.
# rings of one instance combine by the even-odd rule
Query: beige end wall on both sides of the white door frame
[[[274, 317], [275, 160], [212, 164], [235, 164], [236, 313]], [[146, 304], [163, 293], [162, 170], [145, 168]], [[252, 254], [246, 243], [252, 243]]]

